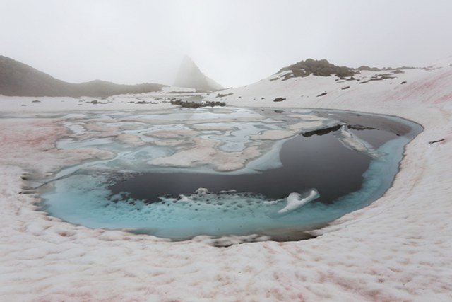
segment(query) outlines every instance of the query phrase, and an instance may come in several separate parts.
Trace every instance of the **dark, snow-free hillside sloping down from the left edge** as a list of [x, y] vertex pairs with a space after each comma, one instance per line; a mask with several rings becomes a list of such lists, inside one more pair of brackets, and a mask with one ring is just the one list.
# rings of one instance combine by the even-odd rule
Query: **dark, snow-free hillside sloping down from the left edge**
[[93, 96], [160, 91], [164, 85], [119, 85], [107, 81], [68, 83], [26, 64], [0, 56], [0, 94], [9, 96]]

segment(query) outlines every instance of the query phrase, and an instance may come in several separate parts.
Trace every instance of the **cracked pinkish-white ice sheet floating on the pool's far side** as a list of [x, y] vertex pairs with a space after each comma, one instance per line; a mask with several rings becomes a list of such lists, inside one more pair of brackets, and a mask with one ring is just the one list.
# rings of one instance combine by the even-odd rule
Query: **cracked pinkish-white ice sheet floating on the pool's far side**
[[[268, 115], [243, 108], [179, 109], [149, 114], [90, 113], [64, 122], [71, 134], [61, 149], [95, 146], [117, 154], [109, 166], [135, 171], [201, 168], [238, 171], [250, 161], [278, 152], [272, 141], [340, 124], [315, 115]], [[275, 166], [275, 163], [270, 163]], [[262, 167], [261, 167], [262, 168]]]

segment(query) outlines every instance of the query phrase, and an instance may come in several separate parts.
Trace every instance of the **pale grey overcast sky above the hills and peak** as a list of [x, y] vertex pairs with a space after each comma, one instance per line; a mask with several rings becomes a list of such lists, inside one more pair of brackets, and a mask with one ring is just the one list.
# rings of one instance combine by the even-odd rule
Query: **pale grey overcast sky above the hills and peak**
[[0, 54], [73, 83], [171, 84], [184, 54], [225, 87], [309, 57], [427, 66], [451, 32], [448, 0], [0, 0]]

